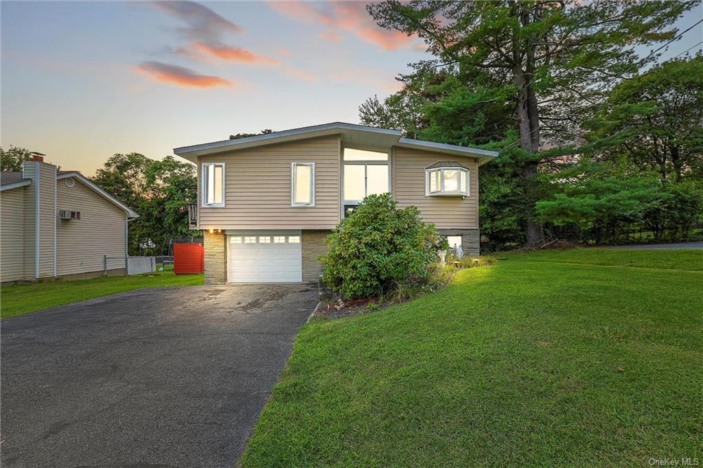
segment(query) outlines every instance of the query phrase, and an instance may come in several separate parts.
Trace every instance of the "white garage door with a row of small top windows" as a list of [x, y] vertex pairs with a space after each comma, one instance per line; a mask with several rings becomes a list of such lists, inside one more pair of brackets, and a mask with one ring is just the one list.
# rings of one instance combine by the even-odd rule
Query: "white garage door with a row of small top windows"
[[229, 282], [301, 282], [300, 233], [228, 235]]

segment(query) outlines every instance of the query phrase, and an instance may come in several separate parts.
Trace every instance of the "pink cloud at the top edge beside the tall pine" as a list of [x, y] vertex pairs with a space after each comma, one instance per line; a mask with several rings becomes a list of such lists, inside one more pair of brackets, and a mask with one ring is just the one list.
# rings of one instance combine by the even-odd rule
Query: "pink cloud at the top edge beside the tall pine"
[[[366, 4], [359, 1], [340, 1], [328, 4], [313, 4], [304, 1], [269, 1], [269, 6], [274, 11], [300, 22], [321, 24], [325, 27], [352, 32], [363, 41], [378, 45], [386, 50], [409, 47], [415, 39], [414, 36], [408, 36], [403, 32], [385, 30], [376, 25], [373, 18], [366, 12]], [[321, 37], [324, 37], [322, 34], [331, 33], [321, 33]]]

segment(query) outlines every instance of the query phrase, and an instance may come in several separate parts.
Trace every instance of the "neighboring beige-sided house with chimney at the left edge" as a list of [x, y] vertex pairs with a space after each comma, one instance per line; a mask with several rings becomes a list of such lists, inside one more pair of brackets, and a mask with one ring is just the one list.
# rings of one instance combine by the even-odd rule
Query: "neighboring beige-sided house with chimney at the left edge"
[[1, 282], [124, 273], [138, 214], [88, 178], [35, 156], [0, 190]]

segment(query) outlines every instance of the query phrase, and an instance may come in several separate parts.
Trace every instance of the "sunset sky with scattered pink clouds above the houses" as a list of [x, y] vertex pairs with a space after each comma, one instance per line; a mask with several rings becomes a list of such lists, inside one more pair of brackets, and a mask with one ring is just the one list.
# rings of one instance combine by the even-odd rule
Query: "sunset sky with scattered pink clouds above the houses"
[[[117, 152], [160, 158], [239, 132], [356, 123], [363, 100], [428, 58], [364, 5], [3, 1], [0, 143], [90, 176]], [[702, 41], [701, 26], [662, 59]]]

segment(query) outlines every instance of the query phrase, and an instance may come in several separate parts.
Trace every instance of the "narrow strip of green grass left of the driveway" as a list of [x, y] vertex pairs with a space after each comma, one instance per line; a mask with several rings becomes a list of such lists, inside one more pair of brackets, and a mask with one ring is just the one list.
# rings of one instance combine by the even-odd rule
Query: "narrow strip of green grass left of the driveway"
[[0, 317], [22, 316], [44, 308], [156, 286], [202, 285], [202, 275], [160, 271], [142, 276], [101, 276], [90, 280], [44, 282], [0, 287]]

